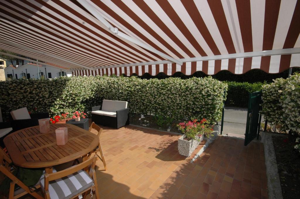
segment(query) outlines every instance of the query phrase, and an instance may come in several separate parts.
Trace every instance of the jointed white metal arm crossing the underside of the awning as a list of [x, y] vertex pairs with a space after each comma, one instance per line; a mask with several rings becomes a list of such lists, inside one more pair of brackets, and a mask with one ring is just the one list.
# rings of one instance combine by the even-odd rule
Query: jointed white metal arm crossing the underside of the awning
[[166, 55], [165, 53], [158, 51], [157, 49], [153, 48], [152, 46], [149, 46], [137, 39], [134, 39], [125, 33], [119, 32], [118, 28], [113, 27], [106, 19], [104, 19], [104, 17], [101, 16], [101, 14], [98, 12], [98, 10], [96, 10], [93, 5], [88, 3], [88, 1], [86, 1], [86, 0], [77, 0], [77, 1], [83, 7], [85, 7], [85, 9], [88, 10], [92, 15], [94, 15], [103, 25], [105, 25], [114, 35], [118, 35], [119, 37], [122, 37], [123, 39], [128, 40], [146, 50], [154, 52], [155, 54], [160, 55], [161, 57], [167, 59], [170, 62], [174, 62], [176, 64], [182, 65], [182, 61], [179, 61], [169, 55]]

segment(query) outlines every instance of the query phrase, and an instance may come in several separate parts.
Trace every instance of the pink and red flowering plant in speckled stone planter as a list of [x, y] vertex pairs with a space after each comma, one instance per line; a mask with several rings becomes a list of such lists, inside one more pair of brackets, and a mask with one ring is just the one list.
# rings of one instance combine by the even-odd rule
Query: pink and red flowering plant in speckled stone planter
[[211, 125], [204, 118], [200, 122], [197, 119], [182, 122], [177, 127], [184, 134], [178, 140], [178, 151], [180, 155], [187, 157], [190, 157], [197, 148], [204, 135], [209, 137], [213, 131]]

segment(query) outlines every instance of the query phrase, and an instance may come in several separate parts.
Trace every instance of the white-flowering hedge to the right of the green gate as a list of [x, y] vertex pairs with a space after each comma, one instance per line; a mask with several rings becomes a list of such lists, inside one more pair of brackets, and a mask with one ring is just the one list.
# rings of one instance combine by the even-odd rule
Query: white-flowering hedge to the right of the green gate
[[271, 123], [300, 133], [300, 74], [275, 79], [262, 89], [262, 114]]

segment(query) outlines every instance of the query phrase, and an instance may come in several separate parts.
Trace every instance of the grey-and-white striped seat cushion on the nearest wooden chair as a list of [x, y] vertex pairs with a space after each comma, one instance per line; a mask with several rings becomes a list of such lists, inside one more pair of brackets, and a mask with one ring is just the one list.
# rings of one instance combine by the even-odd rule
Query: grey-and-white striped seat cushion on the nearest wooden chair
[[[41, 189], [44, 188], [44, 179], [41, 180]], [[77, 171], [67, 177], [49, 182], [49, 194], [51, 199], [71, 198], [93, 185], [91, 177], [83, 170]]]

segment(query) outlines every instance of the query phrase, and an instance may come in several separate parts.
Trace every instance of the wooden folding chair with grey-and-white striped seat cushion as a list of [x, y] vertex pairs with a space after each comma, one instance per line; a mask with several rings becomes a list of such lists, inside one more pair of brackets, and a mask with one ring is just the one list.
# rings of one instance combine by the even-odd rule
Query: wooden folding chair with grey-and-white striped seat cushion
[[[86, 195], [91, 192], [91, 190], [95, 192], [96, 198], [99, 198], [97, 177], [95, 172], [96, 160], [97, 156], [94, 155], [90, 159], [78, 165], [74, 165], [56, 173], [45, 174], [45, 179], [41, 180], [41, 190], [44, 194], [44, 198], [76, 198], [82, 194], [82, 197], [85, 198]], [[89, 171], [87, 173], [85, 169], [88, 167]], [[63, 185], [63, 187], [60, 187], [61, 184], [64, 184], [58, 183], [61, 181], [67, 182], [65, 184], [66, 186]], [[67, 184], [70, 181], [74, 183], [69, 187]], [[56, 192], [56, 190], [62, 190], [63, 193], [60, 191]], [[69, 195], [65, 196], [66, 194]]]

